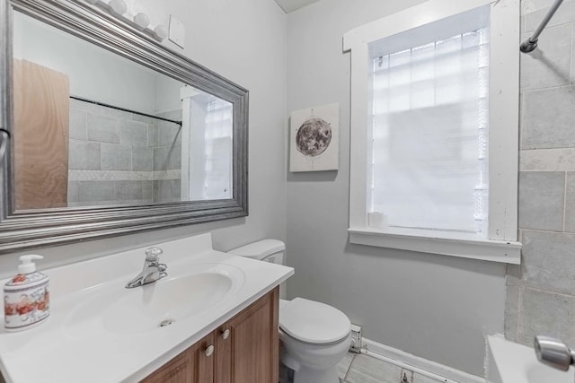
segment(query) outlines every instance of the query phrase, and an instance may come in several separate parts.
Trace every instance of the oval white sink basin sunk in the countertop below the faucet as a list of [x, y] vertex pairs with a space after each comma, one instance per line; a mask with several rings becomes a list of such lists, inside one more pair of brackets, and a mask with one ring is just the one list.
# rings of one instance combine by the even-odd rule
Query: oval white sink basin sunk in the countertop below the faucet
[[243, 272], [232, 265], [193, 268], [192, 274], [170, 274], [168, 269], [167, 277], [132, 289], [124, 288], [126, 281], [90, 289], [90, 298], [67, 316], [66, 331], [75, 337], [93, 333], [93, 326], [121, 335], [161, 331], [212, 308], [243, 284]]

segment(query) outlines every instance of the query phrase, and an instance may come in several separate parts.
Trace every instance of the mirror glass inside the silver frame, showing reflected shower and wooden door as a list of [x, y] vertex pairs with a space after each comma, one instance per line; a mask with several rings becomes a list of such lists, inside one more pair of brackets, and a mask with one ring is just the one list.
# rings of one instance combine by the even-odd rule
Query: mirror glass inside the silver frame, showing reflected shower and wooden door
[[13, 17], [13, 205], [152, 205], [233, 196], [233, 105]]

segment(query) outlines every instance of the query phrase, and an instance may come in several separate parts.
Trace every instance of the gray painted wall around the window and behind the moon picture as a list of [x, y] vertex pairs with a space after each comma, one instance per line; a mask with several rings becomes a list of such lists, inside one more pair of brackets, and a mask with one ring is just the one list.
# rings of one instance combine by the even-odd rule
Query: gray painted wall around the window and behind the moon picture
[[340, 170], [288, 172], [287, 259], [296, 269], [288, 296], [338, 307], [371, 340], [482, 375], [483, 335], [503, 332], [505, 265], [348, 242], [349, 54], [341, 39], [418, 3], [322, 0], [288, 14], [288, 113], [341, 108]]

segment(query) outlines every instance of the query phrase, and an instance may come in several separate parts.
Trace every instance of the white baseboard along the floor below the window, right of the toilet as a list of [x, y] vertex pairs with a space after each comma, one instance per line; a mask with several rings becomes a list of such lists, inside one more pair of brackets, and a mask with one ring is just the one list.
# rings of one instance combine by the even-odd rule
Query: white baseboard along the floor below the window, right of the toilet
[[436, 361], [428, 361], [419, 356], [405, 353], [385, 344], [379, 344], [367, 338], [361, 338], [361, 353], [376, 359], [387, 361], [403, 369], [417, 372], [431, 379], [445, 383], [485, 383], [485, 379], [464, 371], [447, 367]]

